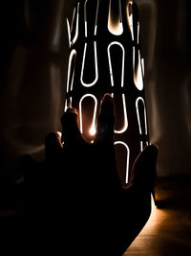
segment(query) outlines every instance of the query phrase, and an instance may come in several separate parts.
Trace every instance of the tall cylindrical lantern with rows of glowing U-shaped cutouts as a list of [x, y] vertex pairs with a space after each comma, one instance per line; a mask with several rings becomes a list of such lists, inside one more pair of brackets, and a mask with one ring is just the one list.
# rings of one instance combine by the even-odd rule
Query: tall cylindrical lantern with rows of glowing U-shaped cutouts
[[117, 170], [125, 185], [138, 153], [149, 144], [138, 7], [126, 0], [80, 1], [67, 27], [71, 52], [65, 107], [77, 109], [80, 130], [92, 142], [100, 100], [112, 95]]

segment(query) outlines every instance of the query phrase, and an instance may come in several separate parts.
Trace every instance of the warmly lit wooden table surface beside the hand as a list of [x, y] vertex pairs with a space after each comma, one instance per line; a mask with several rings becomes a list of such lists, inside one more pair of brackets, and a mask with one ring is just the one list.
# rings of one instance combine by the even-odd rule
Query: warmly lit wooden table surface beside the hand
[[159, 206], [123, 256], [191, 255], [191, 177], [159, 177]]

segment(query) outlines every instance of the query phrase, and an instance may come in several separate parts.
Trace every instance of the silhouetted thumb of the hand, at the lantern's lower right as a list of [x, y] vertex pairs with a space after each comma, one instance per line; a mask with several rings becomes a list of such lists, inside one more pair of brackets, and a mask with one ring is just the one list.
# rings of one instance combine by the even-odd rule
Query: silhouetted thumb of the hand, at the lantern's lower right
[[158, 159], [158, 147], [149, 145], [138, 154], [134, 162], [129, 183], [144, 187], [152, 187], [157, 176], [156, 164]]

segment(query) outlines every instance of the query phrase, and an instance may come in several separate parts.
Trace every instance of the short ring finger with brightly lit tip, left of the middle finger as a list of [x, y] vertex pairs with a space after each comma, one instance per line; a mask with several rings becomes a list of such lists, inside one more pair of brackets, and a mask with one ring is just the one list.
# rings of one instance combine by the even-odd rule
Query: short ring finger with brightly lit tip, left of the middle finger
[[61, 151], [61, 132], [51, 132], [45, 138], [46, 159], [53, 159]]

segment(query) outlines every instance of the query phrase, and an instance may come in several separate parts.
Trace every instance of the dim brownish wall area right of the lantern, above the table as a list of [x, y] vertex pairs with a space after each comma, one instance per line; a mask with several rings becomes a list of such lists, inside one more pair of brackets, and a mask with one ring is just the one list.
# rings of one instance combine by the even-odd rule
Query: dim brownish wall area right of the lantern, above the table
[[159, 146], [158, 175], [190, 175], [191, 5], [186, 0], [173, 5], [139, 0], [138, 7], [151, 143]]

